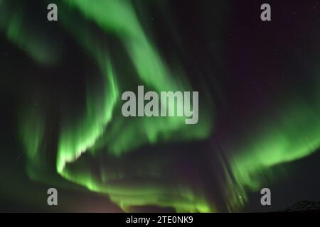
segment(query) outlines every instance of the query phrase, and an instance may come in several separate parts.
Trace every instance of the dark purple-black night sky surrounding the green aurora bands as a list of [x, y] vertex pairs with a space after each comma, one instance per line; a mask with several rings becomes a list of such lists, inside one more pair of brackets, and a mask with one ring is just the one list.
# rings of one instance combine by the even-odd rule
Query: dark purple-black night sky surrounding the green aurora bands
[[[9, 1], [4, 2], [7, 4]], [[61, 2], [55, 2], [60, 12]], [[271, 5], [272, 21], [260, 20], [262, 3]], [[68, 14], [68, 9], [61, 9], [73, 20], [60, 26], [61, 21], [46, 21], [45, 3], [28, 1], [28, 4], [9, 5], [7, 9], [11, 11], [20, 9], [24, 12], [26, 26], [21, 29], [26, 31], [23, 34], [31, 36], [22, 39], [45, 40], [45, 45], [39, 42], [39, 51], [46, 52], [44, 47], [48, 45], [48, 50], [52, 50], [49, 51], [50, 56], [54, 59], [55, 55], [58, 57], [52, 65], [39, 64], [28, 55], [28, 48], [8, 38], [6, 24], [0, 23], [3, 128], [0, 211], [122, 211], [102, 192], [90, 192], [60, 177], [55, 171], [55, 161], [59, 130], [65, 123], [63, 117], [81, 117], [79, 112], [85, 108], [87, 84], [93, 84], [97, 93], [102, 89], [99, 77], [86, 76], [99, 74], [100, 70], [97, 62], [80, 46], [79, 40], [85, 40], [85, 37], [76, 40], [70, 35], [68, 26], [80, 30], [90, 28], [89, 31], [97, 37], [97, 47], [104, 47], [107, 43], [114, 66], [122, 72], [119, 80], [122, 86], [127, 87], [137, 84], [137, 80], [125, 74], [133, 69], [132, 60], [124, 53], [125, 45], [117, 37], [107, 35], [97, 24], [83, 18], [79, 12]], [[250, 155], [251, 147], [247, 145], [247, 140], [257, 141], [259, 147], [259, 143], [265, 141], [264, 136], [271, 138], [272, 135], [261, 133], [265, 128], [269, 130], [270, 121], [272, 126], [292, 125], [289, 122], [292, 118], [286, 117], [286, 114], [292, 113], [297, 115], [299, 123], [290, 128], [289, 143], [295, 144], [292, 138], [305, 140], [305, 146], [314, 146], [313, 152], [289, 162], [267, 166], [268, 174], [271, 172], [267, 177], [260, 173], [255, 175], [261, 177], [260, 187], [271, 189], [272, 206], [261, 206], [260, 192], [246, 189], [248, 199], [240, 211], [278, 211], [301, 200], [320, 201], [320, 156], [316, 152], [319, 144], [309, 144], [320, 134], [316, 134], [312, 127], [313, 124], [317, 126], [317, 122], [312, 123], [313, 115], [307, 115], [320, 114], [319, 107], [316, 107], [320, 97], [316, 89], [320, 82], [317, 79], [320, 75], [320, 2], [174, 0], [150, 3], [139, 0], [133, 1], [133, 5], [144, 33], [153, 40], [164, 62], [170, 69], [178, 63], [192, 87], [206, 94], [206, 99], [202, 101], [204, 111], [208, 111], [213, 121], [213, 129], [200, 141], [173, 139], [155, 145], [141, 145], [134, 148], [133, 153], [124, 155], [122, 160], [100, 153], [92, 156], [85, 154], [86, 161], [80, 163], [80, 169], [90, 165], [90, 171], [95, 172], [97, 166], [112, 166], [115, 170], [123, 168], [124, 172], [129, 172], [139, 165], [149, 170], [146, 163], [165, 165], [161, 182], [166, 187], [175, 188], [179, 183], [189, 185], [195, 194], [203, 194], [208, 204], [215, 204], [218, 211], [227, 211], [225, 190], [228, 189], [225, 189], [227, 180], [223, 167], [227, 165], [231, 170], [233, 157], [238, 157], [240, 150], [248, 149], [245, 153]], [[0, 17], [6, 17], [2, 21], [10, 21], [10, 14], [8, 11], [0, 14], [4, 15]], [[298, 113], [297, 110], [302, 109], [298, 106], [300, 101], [312, 111]], [[33, 166], [38, 179], [33, 179], [27, 171], [28, 155], [26, 145], [21, 142], [19, 124], [21, 116], [28, 112], [28, 106], [38, 104], [47, 123], [41, 144], [42, 154], [38, 155], [40, 161], [37, 161], [36, 167]], [[296, 105], [297, 109], [292, 108], [291, 111], [290, 106]], [[117, 117], [114, 116], [115, 119]], [[300, 119], [303, 119], [301, 123]], [[312, 136], [309, 136], [309, 127], [310, 132], [315, 132]], [[282, 135], [281, 127], [274, 127], [274, 133]], [[178, 137], [179, 133], [176, 135]], [[277, 141], [277, 138], [270, 140], [270, 143], [272, 141]], [[107, 145], [105, 147], [109, 148]], [[294, 145], [292, 147], [294, 153]], [[271, 150], [269, 156], [272, 155], [274, 152]], [[252, 164], [254, 159], [255, 155], [247, 165], [255, 166]], [[159, 169], [162, 170], [162, 167]], [[173, 179], [170, 179], [171, 175]], [[129, 175], [125, 181], [137, 185], [137, 188], [140, 184], [146, 184], [144, 178], [136, 175], [131, 178]], [[123, 187], [127, 185], [126, 182], [119, 184]], [[46, 204], [48, 187], [58, 189], [59, 206]], [[151, 204], [137, 207], [136, 211], [159, 209], [156, 204]], [[173, 211], [170, 207], [165, 210]]]

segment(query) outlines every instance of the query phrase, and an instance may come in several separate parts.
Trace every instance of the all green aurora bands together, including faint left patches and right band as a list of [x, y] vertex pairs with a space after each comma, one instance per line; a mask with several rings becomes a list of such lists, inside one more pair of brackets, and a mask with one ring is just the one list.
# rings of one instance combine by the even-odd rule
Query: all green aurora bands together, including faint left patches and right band
[[[183, 74], [177, 77], [166, 66], [157, 48], [144, 32], [129, 1], [61, 1], [63, 3], [82, 13], [106, 34], [114, 35], [120, 40], [136, 70], [132, 75], [124, 77], [137, 76], [139, 82], [157, 92], [191, 90]], [[201, 189], [197, 191], [188, 183], [168, 184], [164, 180], [163, 172], [171, 162], [170, 157], [159, 158], [151, 166], [148, 164], [150, 160], [146, 158], [139, 165], [129, 167], [129, 170], [121, 169], [124, 167], [122, 159], [129, 158], [131, 153], [146, 145], [207, 138], [210, 135], [210, 122], [213, 120], [210, 111], [201, 109], [199, 123], [192, 128], [184, 124], [183, 118], [115, 117], [119, 114], [119, 99], [125, 82], [119, 79], [118, 71], [121, 70], [113, 64], [112, 51], [105, 43], [97, 44], [97, 35], [87, 32], [81, 25], [69, 26], [74, 21], [65, 9], [59, 12], [63, 18], [60, 23], [65, 30], [90, 54], [92, 60], [98, 62], [104, 83], [102, 94], [99, 95], [88, 88], [82, 117], [61, 126], [56, 160], [58, 174], [92, 192], [107, 194], [124, 210], [130, 206], [156, 205], [173, 207], [176, 211], [218, 211], [215, 204], [206, 200]], [[7, 38], [20, 48], [30, 45], [27, 40], [32, 39], [31, 34], [18, 32], [17, 26], [21, 25], [18, 25], [16, 17], [11, 22], [4, 29]], [[21, 40], [18, 36], [29, 39]], [[49, 49], [43, 52], [31, 45], [26, 51], [40, 64], [52, 61], [46, 56], [41, 57], [50, 55]], [[228, 149], [230, 156], [226, 158], [225, 164], [224, 196], [229, 211], [236, 211], [245, 205], [247, 190], [257, 191], [268, 181], [267, 176], [272, 175], [271, 167], [301, 159], [319, 148], [319, 102], [319, 99], [314, 99], [306, 104], [298, 97], [290, 103], [284, 101], [281, 108], [278, 108], [281, 111], [276, 110], [272, 116], [252, 128], [250, 138], [243, 138], [241, 143], [230, 141], [238, 144]], [[38, 165], [41, 162], [39, 153], [46, 127], [44, 119], [36, 119], [43, 119], [43, 116], [37, 111], [31, 111], [31, 116], [23, 118], [21, 123], [28, 165]], [[113, 169], [97, 165], [97, 175], [91, 169], [92, 163], [99, 162], [92, 162], [91, 159], [102, 154], [117, 165], [110, 163]], [[130, 177], [142, 177], [146, 180], [142, 184], [124, 184], [123, 181]]]

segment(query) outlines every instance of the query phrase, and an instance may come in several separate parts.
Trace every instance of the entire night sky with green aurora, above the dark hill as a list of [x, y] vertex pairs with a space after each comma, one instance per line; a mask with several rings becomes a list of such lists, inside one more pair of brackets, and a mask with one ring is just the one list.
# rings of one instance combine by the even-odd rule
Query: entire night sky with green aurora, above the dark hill
[[[320, 200], [320, 3], [270, 1], [268, 22], [261, 3], [0, 0], [0, 211]], [[125, 118], [122, 93], [141, 85], [198, 91], [198, 123]]]

